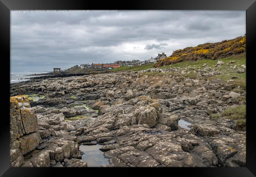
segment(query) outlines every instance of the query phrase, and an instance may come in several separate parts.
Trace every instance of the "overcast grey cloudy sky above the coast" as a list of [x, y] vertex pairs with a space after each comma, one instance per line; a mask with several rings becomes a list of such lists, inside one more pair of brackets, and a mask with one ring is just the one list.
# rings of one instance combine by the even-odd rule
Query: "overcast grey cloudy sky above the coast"
[[11, 72], [144, 61], [244, 35], [245, 11], [11, 12]]

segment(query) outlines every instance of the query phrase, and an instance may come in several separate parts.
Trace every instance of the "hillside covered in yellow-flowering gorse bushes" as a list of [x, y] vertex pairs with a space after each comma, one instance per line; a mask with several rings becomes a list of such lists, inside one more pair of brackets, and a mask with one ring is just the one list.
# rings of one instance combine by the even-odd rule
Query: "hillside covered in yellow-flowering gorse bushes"
[[231, 40], [224, 40], [216, 43], [200, 44], [196, 47], [187, 47], [176, 50], [165, 59], [161, 59], [154, 65], [160, 67], [182, 61], [196, 61], [201, 59], [216, 60], [246, 51], [246, 36], [237, 37]]

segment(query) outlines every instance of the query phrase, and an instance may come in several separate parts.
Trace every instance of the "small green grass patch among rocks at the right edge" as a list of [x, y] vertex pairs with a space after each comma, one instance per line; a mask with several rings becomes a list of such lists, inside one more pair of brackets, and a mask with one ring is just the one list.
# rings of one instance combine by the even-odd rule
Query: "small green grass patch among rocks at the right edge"
[[232, 120], [246, 119], [246, 105], [229, 107], [222, 112], [222, 116], [226, 116]]

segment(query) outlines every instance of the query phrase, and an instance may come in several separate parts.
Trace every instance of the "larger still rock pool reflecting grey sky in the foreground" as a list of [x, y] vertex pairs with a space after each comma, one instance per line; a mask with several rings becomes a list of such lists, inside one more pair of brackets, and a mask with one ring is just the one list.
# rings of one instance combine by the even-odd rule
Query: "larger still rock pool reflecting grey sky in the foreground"
[[110, 164], [109, 158], [104, 155], [104, 152], [100, 151], [102, 145], [80, 145], [79, 150], [84, 154], [82, 160], [87, 162], [88, 167], [100, 167]]

